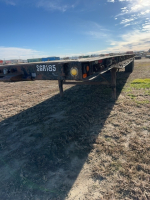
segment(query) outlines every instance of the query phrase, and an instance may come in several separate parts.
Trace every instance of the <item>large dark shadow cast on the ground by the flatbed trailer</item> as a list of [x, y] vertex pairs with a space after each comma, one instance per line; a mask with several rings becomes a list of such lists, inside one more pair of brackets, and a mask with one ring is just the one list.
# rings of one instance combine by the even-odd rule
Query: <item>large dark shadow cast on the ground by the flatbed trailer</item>
[[[117, 73], [117, 97], [128, 76]], [[110, 97], [105, 86], [74, 86], [2, 121], [0, 199], [65, 199], [115, 104]]]

